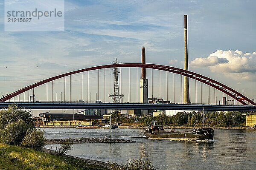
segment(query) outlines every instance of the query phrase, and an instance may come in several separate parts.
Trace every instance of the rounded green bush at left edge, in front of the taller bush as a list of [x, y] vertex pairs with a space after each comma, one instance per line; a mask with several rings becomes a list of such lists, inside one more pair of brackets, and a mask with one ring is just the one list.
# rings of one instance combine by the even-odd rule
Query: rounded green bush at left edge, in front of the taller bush
[[19, 120], [7, 125], [1, 130], [1, 143], [18, 145], [21, 144], [26, 135], [28, 125], [25, 121]]

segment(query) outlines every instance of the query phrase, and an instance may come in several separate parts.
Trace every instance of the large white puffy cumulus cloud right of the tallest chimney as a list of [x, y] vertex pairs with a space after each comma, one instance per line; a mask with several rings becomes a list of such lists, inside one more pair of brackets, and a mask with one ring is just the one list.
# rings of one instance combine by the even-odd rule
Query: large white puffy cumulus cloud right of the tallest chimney
[[208, 67], [212, 72], [222, 73], [233, 79], [256, 80], [256, 52], [217, 50], [208, 57], [194, 59], [190, 65], [196, 68]]

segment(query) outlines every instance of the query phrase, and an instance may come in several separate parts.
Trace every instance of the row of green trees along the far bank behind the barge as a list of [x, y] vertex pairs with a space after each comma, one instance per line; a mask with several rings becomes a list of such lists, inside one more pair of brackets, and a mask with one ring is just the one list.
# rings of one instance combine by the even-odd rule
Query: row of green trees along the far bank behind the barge
[[165, 113], [162, 113], [156, 117], [152, 116], [134, 116], [127, 118], [118, 111], [112, 113], [112, 122], [117, 123], [134, 123], [139, 122], [143, 123], [143, 126], [151, 125], [152, 121], [157, 121], [160, 125], [173, 125], [173, 126], [200, 126], [205, 125], [209, 126], [218, 126], [218, 127], [235, 127], [243, 126], [245, 124], [245, 116], [242, 114], [245, 112], [238, 111], [227, 111], [227, 112], [178, 112], [176, 115], [167, 116]]

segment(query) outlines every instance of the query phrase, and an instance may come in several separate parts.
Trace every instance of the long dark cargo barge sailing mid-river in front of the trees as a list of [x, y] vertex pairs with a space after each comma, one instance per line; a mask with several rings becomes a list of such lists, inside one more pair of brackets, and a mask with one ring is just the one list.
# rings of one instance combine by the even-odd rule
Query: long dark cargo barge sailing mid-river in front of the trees
[[198, 140], [213, 140], [214, 130], [210, 127], [198, 128], [194, 130], [177, 131], [177, 130], [164, 130], [163, 126], [153, 125], [148, 126], [144, 135], [147, 139], [165, 139], [176, 141], [198, 141]]

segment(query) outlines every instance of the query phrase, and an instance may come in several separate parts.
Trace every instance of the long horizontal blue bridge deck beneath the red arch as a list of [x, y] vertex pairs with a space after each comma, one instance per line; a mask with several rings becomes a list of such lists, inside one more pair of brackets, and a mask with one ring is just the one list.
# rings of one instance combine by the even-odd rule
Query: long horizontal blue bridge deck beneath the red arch
[[186, 105], [151, 103], [78, 103], [78, 102], [0, 102], [0, 109], [9, 104], [24, 109], [142, 109], [184, 111], [256, 111], [256, 105]]

